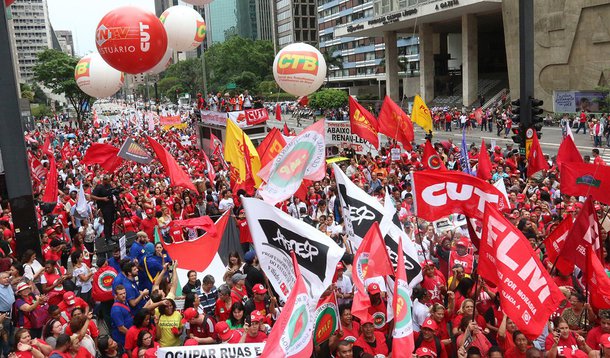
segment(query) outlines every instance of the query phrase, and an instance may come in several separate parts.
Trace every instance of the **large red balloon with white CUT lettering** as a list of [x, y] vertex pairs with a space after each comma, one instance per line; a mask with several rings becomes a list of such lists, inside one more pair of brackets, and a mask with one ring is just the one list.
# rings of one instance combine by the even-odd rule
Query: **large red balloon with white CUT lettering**
[[123, 6], [100, 20], [95, 43], [110, 66], [137, 74], [149, 71], [161, 61], [167, 50], [167, 34], [152, 12]]

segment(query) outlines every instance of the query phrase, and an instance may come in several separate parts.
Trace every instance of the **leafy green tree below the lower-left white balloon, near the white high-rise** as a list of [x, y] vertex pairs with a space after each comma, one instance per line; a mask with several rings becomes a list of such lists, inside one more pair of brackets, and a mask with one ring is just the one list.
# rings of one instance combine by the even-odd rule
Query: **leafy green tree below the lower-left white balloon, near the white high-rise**
[[34, 66], [34, 79], [53, 93], [64, 95], [76, 112], [76, 121], [83, 127], [85, 107], [93, 104], [93, 98], [81, 91], [74, 79], [78, 59], [57, 50], [45, 50], [38, 54]]

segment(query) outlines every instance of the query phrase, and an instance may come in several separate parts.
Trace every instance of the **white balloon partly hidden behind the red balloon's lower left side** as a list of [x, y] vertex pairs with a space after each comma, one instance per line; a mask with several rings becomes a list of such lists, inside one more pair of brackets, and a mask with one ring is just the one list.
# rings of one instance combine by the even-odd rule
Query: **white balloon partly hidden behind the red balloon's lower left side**
[[78, 61], [74, 68], [74, 79], [78, 87], [89, 96], [105, 98], [121, 89], [125, 76], [95, 52]]

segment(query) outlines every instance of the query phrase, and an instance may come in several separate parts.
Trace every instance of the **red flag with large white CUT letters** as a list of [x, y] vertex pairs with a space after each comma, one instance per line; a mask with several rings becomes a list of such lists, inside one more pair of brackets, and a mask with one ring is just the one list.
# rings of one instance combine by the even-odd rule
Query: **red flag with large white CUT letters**
[[413, 173], [417, 216], [436, 221], [451, 214], [483, 220], [485, 203], [500, 211], [508, 208], [506, 197], [493, 185], [460, 172], [423, 170]]

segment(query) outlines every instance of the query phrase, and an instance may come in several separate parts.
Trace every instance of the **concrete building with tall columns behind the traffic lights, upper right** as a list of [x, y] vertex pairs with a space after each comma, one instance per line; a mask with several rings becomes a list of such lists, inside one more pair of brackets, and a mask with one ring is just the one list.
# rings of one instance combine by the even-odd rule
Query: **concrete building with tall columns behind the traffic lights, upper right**
[[[464, 105], [502, 87], [519, 96], [518, 0], [374, 0], [373, 17], [339, 24], [335, 39], [384, 38], [385, 85], [399, 100], [416, 93]], [[534, 1], [535, 96], [552, 110], [561, 91], [607, 84], [610, 1]], [[400, 79], [399, 38], [419, 37], [419, 74]], [[402, 84], [401, 84], [402, 82]], [[402, 88], [402, 90], [401, 90]], [[565, 99], [565, 98], [563, 98]], [[557, 105], [557, 103], [555, 103]]]

